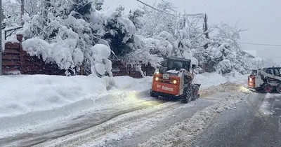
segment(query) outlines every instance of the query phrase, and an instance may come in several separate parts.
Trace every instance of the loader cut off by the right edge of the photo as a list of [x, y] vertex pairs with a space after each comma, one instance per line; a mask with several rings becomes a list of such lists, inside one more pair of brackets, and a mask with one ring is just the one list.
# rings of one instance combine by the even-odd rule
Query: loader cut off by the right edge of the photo
[[248, 87], [257, 92], [281, 93], [281, 67], [253, 70], [248, 76]]

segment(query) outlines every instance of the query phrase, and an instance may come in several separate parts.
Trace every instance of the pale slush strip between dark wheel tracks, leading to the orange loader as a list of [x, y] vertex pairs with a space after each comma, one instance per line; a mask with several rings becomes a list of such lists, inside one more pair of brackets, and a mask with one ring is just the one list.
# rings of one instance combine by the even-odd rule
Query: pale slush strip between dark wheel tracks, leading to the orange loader
[[157, 112], [167, 113], [167, 111], [170, 111], [173, 108], [178, 108], [179, 106], [183, 106], [183, 104], [179, 102], [166, 102], [164, 104], [148, 107], [146, 109], [139, 109], [131, 112], [130, 114], [123, 113], [122, 115], [119, 115], [118, 117], [108, 120], [100, 125], [87, 128], [86, 130], [81, 130], [80, 132], [69, 134], [65, 137], [60, 137], [51, 141], [47, 141], [42, 144], [37, 144], [37, 147], [81, 146], [84, 142], [93, 141], [93, 139], [103, 137], [105, 134], [113, 132], [119, 127], [128, 125], [128, 123], [131, 124], [134, 122], [141, 121], [142, 119], [147, 119], [146, 116], [150, 116]]

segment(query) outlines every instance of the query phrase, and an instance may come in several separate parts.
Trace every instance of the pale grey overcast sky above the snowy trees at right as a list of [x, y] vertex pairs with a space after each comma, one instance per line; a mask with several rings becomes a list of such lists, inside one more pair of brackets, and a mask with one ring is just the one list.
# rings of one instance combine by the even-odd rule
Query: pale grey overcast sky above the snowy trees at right
[[[153, 4], [160, 0], [143, 0]], [[175, 4], [178, 12], [207, 13], [209, 25], [228, 22], [248, 29], [241, 34], [242, 42], [281, 44], [281, 0], [167, 0]], [[142, 6], [136, 0], [105, 0], [105, 7], [122, 5], [129, 11]], [[281, 46], [245, 45], [243, 50], [257, 50], [259, 57], [273, 57], [281, 63]]]

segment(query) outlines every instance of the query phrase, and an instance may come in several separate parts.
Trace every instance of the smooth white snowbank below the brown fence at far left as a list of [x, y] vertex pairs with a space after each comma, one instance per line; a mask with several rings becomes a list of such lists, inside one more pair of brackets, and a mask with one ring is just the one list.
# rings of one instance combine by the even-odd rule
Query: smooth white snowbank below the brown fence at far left
[[0, 118], [56, 109], [107, 91], [110, 78], [86, 76], [1, 76]]

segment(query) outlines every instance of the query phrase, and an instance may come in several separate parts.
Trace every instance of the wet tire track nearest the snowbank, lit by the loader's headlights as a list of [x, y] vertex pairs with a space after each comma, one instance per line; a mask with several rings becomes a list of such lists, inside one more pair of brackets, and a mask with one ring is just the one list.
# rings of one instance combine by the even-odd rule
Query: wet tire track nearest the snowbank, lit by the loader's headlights
[[45, 130], [46, 132], [24, 133], [18, 134], [15, 137], [5, 137], [0, 139], [0, 146], [35, 146], [46, 141], [65, 137], [75, 132], [81, 132], [91, 127], [98, 126], [125, 113], [147, 109], [164, 103], [166, 102], [149, 100], [138, 103], [133, 107], [129, 106], [129, 109], [107, 109], [91, 113], [90, 115], [78, 116], [77, 118], [70, 120], [69, 123], [55, 126], [55, 129], [50, 128], [50, 130]]

